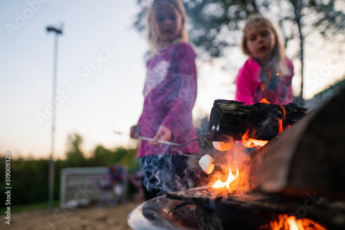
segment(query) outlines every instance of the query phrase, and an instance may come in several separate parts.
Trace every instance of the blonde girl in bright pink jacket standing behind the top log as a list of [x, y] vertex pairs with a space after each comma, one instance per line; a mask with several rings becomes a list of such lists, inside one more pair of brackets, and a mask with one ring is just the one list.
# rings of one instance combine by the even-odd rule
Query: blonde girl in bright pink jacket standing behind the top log
[[236, 78], [236, 101], [287, 104], [293, 100], [293, 64], [273, 23], [256, 15], [243, 30], [242, 52], [249, 56]]

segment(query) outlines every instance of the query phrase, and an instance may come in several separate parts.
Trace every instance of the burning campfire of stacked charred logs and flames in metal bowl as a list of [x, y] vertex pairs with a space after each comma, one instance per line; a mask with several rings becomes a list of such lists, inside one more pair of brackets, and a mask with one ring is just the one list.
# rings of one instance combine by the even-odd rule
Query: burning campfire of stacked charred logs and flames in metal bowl
[[345, 91], [311, 113], [295, 104], [216, 100], [208, 136], [222, 153], [215, 155], [219, 166], [204, 186], [141, 204], [128, 223], [133, 229], [345, 229], [344, 106]]

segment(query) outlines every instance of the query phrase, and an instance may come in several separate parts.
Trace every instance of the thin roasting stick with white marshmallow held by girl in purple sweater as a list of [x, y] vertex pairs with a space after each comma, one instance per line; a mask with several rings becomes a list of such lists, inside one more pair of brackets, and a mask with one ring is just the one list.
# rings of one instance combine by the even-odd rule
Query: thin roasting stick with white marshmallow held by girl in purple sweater
[[[117, 132], [117, 131], [114, 131], [114, 133], [121, 134], [121, 135], [124, 134], [124, 133]], [[164, 140], [155, 140], [155, 139], [150, 138], [150, 137], [138, 136], [137, 139], [145, 140], [145, 141], [148, 141], [148, 142], [158, 142], [158, 143], [161, 143], [161, 144], [169, 144], [169, 145], [175, 145], [175, 146], [181, 146], [181, 147], [184, 146], [184, 144], [177, 144], [177, 143], [174, 143], [174, 142], [167, 142], [167, 141], [164, 141]], [[190, 154], [186, 154], [186, 153], [181, 153], [179, 151], [179, 155], [184, 155], [186, 157], [191, 157], [191, 158], [199, 160], [199, 165], [200, 165], [201, 169], [204, 170], [204, 172], [207, 173], [207, 174], [210, 174], [210, 173], [213, 172], [213, 169], [215, 169], [215, 165], [220, 167], [220, 164], [216, 163], [213, 160], [213, 158], [210, 155], [208, 155], [208, 154], [203, 155], [200, 158], [200, 157], [195, 157], [194, 155], [190, 155]]]

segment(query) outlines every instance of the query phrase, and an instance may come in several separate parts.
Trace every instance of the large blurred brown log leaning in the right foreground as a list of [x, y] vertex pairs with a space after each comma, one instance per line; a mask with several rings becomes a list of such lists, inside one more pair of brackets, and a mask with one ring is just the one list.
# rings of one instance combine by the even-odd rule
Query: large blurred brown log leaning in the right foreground
[[250, 160], [253, 189], [344, 199], [344, 108], [342, 90], [262, 147]]

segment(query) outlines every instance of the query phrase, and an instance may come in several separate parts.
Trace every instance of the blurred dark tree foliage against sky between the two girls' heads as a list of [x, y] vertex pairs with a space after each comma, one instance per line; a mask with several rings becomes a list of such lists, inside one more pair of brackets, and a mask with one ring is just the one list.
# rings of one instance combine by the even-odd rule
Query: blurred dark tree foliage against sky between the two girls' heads
[[[164, 0], [162, 0], [164, 1]], [[134, 23], [143, 31], [150, 0], [137, 0], [141, 11]], [[183, 1], [190, 26], [190, 41], [204, 59], [224, 56], [224, 48], [238, 46], [239, 27], [259, 12], [255, 1], [190, 0]]]

